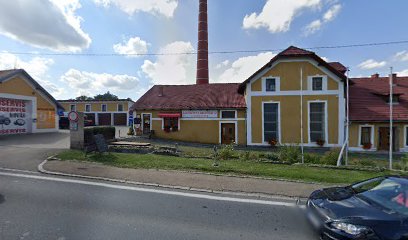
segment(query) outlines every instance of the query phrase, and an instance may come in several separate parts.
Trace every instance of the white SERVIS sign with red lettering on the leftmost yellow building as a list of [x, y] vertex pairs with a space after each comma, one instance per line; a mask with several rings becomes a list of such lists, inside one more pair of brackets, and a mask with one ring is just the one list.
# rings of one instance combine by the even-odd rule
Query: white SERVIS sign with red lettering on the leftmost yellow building
[[27, 101], [0, 98], [0, 135], [26, 133]]

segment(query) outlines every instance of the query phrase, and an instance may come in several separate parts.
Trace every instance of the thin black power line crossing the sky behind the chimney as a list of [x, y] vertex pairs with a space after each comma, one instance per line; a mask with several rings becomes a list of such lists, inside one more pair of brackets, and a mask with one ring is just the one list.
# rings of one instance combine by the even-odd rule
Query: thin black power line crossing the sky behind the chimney
[[[373, 47], [385, 45], [408, 44], [408, 40], [391, 41], [391, 42], [376, 42], [376, 43], [361, 43], [335, 46], [318, 46], [306, 47], [307, 50], [318, 49], [342, 49], [342, 48], [357, 48], [357, 47]], [[258, 53], [258, 52], [280, 52], [284, 49], [257, 49], [257, 50], [233, 50], [233, 51], [209, 51], [208, 54], [234, 54], [234, 53]], [[197, 52], [174, 52], [174, 53], [135, 53], [135, 54], [120, 54], [120, 53], [39, 53], [39, 52], [3, 52], [14, 55], [31, 55], [31, 56], [79, 56], [79, 57], [149, 57], [149, 56], [177, 56], [177, 55], [196, 55]]]

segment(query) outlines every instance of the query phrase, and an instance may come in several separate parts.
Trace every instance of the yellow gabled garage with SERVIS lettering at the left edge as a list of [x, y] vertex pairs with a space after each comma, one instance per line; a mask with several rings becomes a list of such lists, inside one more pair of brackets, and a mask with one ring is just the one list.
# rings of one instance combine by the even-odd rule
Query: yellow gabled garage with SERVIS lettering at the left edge
[[0, 71], [0, 135], [57, 131], [58, 108], [26, 71]]

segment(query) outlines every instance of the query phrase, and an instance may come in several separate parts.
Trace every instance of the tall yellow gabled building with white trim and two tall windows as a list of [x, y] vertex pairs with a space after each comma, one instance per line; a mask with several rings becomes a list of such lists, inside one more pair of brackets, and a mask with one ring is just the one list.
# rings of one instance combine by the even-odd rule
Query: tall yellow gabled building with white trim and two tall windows
[[293, 46], [276, 55], [239, 88], [247, 104], [247, 144], [342, 146], [345, 71]]

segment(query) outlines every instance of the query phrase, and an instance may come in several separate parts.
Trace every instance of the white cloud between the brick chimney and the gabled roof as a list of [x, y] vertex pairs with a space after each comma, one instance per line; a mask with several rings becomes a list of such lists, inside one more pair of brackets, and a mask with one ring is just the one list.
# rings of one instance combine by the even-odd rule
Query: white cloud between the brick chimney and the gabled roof
[[272, 52], [264, 52], [255, 56], [238, 58], [215, 81], [223, 83], [243, 82], [268, 63], [274, 56], [275, 54]]

